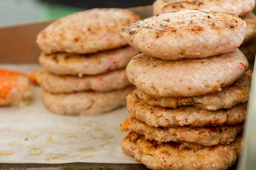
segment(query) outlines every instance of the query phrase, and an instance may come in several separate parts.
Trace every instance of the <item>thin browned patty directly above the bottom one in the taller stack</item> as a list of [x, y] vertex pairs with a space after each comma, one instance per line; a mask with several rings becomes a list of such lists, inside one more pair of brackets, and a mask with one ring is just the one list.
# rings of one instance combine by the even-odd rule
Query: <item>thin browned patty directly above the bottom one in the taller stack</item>
[[121, 132], [132, 130], [147, 140], [158, 142], [191, 142], [203, 146], [230, 144], [242, 132], [243, 125], [221, 127], [151, 127], [136, 118], [129, 118], [120, 126]]

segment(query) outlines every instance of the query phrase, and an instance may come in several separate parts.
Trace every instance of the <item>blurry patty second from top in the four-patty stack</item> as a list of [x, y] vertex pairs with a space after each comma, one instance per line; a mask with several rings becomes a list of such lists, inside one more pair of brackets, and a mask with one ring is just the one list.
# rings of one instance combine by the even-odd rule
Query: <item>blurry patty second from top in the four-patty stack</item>
[[137, 54], [139, 54], [139, 50], [129, 45], [119, 49], [97, 52], [90, 55], [68, 53], [46, 55], [46, 53], [42, 52], [39, 57], [39, 62], [48, 72], [54, 74], [95, 75], [124, 68], [132, 57]]

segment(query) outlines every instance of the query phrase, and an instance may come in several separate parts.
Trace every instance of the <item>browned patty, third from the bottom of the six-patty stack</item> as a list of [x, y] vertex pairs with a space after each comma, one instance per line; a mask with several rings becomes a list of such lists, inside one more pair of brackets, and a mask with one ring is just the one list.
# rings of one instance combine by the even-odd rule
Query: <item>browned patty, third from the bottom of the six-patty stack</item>
[[238, 125], [243, 123], [246, 103], [233, 108], [207, 111], [195, 106], [181, 106], [175, 109], [150, 106], [139, 99], [134, 92], [127, 96], [127, 109], [132, 118], [154, 127], [174, 127], [190, 125], [193, 127]]

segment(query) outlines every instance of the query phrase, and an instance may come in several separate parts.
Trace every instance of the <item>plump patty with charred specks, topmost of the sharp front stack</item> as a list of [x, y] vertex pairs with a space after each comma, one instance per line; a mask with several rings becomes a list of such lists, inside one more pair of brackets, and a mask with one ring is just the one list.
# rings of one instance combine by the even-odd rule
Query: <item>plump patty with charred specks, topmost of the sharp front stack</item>
[[144, 54], [163, 60], [203, 58], [232, 52], [245, 38], [246, 23], [218, 11], [161, 13], [122, 28], [122, 35]]

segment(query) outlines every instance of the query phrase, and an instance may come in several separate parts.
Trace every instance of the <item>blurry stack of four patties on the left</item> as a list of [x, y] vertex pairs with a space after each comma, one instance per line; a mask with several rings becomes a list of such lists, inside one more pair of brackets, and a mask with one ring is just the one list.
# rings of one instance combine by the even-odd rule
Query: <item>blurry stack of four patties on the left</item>
[[53, 113], [95, 115], [123, 106], [132, 91], [125, 67], [137, 49], [120, 30], [139, 16], [119, 8], [95, 8], [60, 18], [38, 34], [44, 70], [36, 79]]

